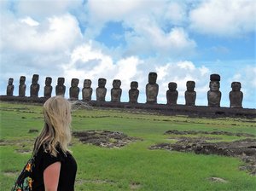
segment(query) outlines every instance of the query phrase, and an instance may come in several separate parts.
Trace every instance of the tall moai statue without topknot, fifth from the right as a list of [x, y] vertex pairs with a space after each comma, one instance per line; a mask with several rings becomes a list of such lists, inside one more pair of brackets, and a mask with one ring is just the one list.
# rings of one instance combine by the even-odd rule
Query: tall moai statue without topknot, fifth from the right
[[157, 103], [159, 86], [156, 84], [157, 73], [149, 72], [148, 84], [146, 85], [147, 103]]

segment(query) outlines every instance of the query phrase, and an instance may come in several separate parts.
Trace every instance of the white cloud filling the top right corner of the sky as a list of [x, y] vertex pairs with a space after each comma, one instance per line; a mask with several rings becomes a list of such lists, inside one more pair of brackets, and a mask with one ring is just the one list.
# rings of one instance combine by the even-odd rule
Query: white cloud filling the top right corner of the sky
[[189, 14], [190, 28], [195, 32], [222, 37], [243, 36], [255, 31], [255, 9], [254, 0], [202, 1]]

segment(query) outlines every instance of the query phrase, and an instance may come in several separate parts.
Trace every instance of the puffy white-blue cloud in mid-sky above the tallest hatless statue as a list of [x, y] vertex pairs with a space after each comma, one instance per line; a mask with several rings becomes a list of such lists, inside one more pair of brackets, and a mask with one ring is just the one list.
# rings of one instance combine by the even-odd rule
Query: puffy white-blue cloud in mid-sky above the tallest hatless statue
[[171, 32], [164, 32], [159, 26], [154, 26], [150, 20], [141, 20], [134, 27], [133, 32], [125, 35], [128, 43], [128, 54], [156, 54], [179, 57], [184, 54], [192, 55], [196, 43], [189, 39], [183, 28], [172, 28]]

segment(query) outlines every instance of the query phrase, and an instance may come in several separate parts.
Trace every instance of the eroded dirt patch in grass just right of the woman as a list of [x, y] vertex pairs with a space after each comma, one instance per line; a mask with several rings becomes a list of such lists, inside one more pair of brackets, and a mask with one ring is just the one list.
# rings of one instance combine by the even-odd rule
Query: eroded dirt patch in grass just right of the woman
[[120, 148], [138, 140], [122, 132], [108, 130], [76, 131], [73, 132], [73, 136], [78, 137], [80, 142], [90, 143], [103, 148]]

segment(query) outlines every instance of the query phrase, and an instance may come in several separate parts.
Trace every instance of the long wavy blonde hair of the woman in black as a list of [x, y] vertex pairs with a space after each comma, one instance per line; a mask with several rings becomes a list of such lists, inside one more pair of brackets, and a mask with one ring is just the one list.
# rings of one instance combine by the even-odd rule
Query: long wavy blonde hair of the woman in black
[[35, 142], [33, 153], [41, 146], [51, 155], [57, 155], [57, 147], [63, 153], [71, 153], [68, 144], [71, 142], [71, 104], [63, 96], [50, 97], [44, 103], [44, 128]]

